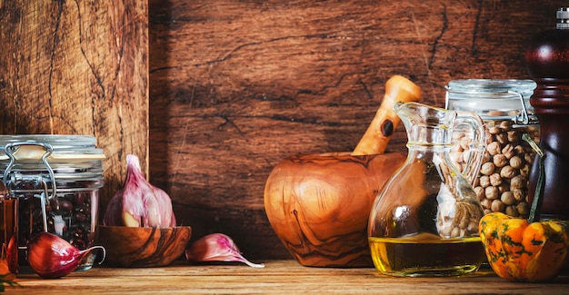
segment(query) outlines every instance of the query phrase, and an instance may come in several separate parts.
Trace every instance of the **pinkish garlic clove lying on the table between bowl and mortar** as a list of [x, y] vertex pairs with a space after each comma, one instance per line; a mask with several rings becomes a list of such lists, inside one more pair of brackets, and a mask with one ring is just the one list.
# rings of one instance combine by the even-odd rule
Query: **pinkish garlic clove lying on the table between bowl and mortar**
[[211, 233], [195, 241], [187, 250], [188, 261], [236, 261], [254, 268], [264, 268], [263, 263], [253, 263], [241, 255], [239, 248], [230, 237], [223, 233]]

